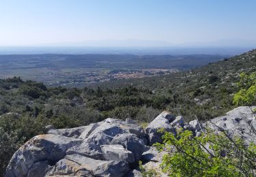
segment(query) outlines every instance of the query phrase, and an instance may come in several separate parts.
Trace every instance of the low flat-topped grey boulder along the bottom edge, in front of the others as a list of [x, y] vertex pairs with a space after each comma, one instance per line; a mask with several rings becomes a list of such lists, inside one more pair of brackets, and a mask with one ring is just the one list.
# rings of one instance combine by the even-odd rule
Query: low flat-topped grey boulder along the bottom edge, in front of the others
[[48, 176], [124, 176], [130, 170], [124, 161], [99, 161], [81, 155], [67, 155]]

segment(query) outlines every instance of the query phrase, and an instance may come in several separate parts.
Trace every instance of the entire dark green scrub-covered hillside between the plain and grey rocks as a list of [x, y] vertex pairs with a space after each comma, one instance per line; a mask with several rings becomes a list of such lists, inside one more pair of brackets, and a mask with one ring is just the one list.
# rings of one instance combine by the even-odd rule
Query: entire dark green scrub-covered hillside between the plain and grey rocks
[[0, 80], [0, 174], [10, 157], [47, 125], [79, 127], [107, 117], [150, 122], [162, 110], [208, 120], [233, 108], [240, 73], [256, 71], [256, 50], [193, 71], [104, 82], [87, 88], [48, 88], [20, 78]]

